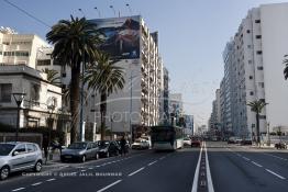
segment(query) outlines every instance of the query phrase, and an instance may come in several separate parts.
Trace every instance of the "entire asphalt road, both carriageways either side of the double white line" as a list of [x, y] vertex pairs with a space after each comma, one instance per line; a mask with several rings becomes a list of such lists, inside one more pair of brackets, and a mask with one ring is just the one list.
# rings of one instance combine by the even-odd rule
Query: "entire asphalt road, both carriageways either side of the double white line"
[[[210, 142], [202, 150], [146, 150], [41, 173], [12, 176], [0, 182], [0, 192], [287, 192], [288, 151]], [[195, 188], [202, 182], [210, 190]]]

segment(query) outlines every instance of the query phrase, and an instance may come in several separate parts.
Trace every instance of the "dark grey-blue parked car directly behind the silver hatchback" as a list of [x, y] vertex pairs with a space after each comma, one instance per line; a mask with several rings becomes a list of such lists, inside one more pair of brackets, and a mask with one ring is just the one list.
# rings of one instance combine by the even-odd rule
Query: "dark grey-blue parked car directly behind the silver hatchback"
[[92, 142], [77, 142], [62, 150], [60, 160], [77, 160], [85, 162], [87, 159], [98, 159], [99, 147]]

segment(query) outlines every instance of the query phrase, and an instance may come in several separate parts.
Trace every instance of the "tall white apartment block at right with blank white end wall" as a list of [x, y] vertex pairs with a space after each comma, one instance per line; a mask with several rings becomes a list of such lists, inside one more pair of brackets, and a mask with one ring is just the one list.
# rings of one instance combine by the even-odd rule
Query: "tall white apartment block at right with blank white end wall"
[[224, 50], [222, 88], [228, 90], [221, 90], [230, 95], [224, 97], [223, 103], [230, 105], [232, 129], [237, 136], [255, 133], [255, 113], [246, 105], [254, 100], [269, 103], [259, 116], [261, 133], [267, 132], [267, 122], [270, 127], [288, 126], [285, 115], [288, 113], [288, 89], [283, 76], [287, 20], [288, 3], [251, 9]]

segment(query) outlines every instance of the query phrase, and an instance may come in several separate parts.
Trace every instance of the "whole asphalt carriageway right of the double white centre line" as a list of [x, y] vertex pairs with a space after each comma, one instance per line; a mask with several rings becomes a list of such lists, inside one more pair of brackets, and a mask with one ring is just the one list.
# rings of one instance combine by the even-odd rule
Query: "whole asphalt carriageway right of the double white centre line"
[[217, 192], [287, 192], [288, 153], [208, 143]]

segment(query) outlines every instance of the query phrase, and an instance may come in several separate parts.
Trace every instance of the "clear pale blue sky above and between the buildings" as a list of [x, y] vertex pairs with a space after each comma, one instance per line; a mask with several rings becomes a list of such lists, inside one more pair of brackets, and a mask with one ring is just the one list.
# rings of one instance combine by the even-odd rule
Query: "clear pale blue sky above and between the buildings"
[[[70, 14], [87, 19], [141, 14], [159, 33], [159, 52], [170, 74], [170, 92], [181, 92], [185, 111], [207, 124], [223, 77], [222, 52], [248, 9], [278, 0], [9, 0], [48, 25]], [[45, 38], [48, 27], [0, 0], [0, 26]]]

